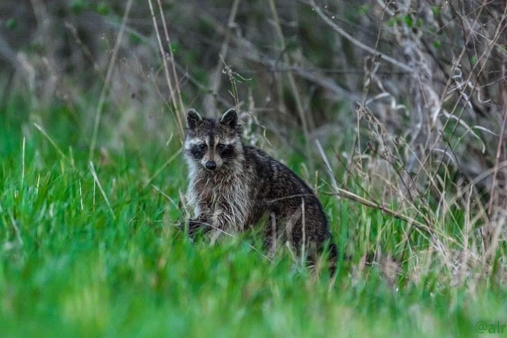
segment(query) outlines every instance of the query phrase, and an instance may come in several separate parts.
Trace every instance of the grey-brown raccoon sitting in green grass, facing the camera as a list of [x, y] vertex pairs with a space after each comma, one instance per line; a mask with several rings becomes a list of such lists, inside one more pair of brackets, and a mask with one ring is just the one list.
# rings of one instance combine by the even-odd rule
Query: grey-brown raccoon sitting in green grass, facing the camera
[[218, 120], [191, 109], [187, 126], [188, 198], [195, 213], [188, 226], [192, 238], [198, 230], [237, 233], [267, 219], [264, 242], [271, 252], [288, 241], [297, 253], [307, 248], [315, 259], [330, 241], [333, 271], [337, 250], [319, 200], [288, 167], [243, 143], [234, 109]]

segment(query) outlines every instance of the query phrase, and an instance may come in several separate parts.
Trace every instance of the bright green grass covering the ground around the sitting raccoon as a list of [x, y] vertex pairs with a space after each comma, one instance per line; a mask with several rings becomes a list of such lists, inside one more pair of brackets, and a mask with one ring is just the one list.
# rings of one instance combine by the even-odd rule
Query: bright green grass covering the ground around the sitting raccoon
[[[0, 111], [0, 336], [476, 336], [479, 320], [507, 322], [500, 283], [451, 286], [438, 260], [418, 278], [403, 264], [393, 284], [379, 265], [358, 267], [374, 248], [399, 256], [407, 224], [351, 201], [319, 196], [351, 256], [335, 283], [288, 250], [267, 261], [248, 245], [261, 250], [255, 233], [191, 243], [175, 226], [187, 217], [182, 157], [152, 182], [176, 206], [146, 184], [175, 139], [132, 137], [94, 159], [110, 209], [87, 133], [65, 111], [34, 113], [19, 99]], [[414, 233], [410, 246], [424, 255], [428, 244]]]

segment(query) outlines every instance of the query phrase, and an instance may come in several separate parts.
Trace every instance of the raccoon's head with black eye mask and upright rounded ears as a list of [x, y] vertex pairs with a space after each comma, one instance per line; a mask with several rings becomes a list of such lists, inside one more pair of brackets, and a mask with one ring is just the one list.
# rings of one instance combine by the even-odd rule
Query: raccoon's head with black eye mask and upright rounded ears
[[222, 118], [203, 118], [194, 109], [187, 113], [185, 155], [209, 172], [232, 168], [242, 156], [238, 114], [229, 109]]

